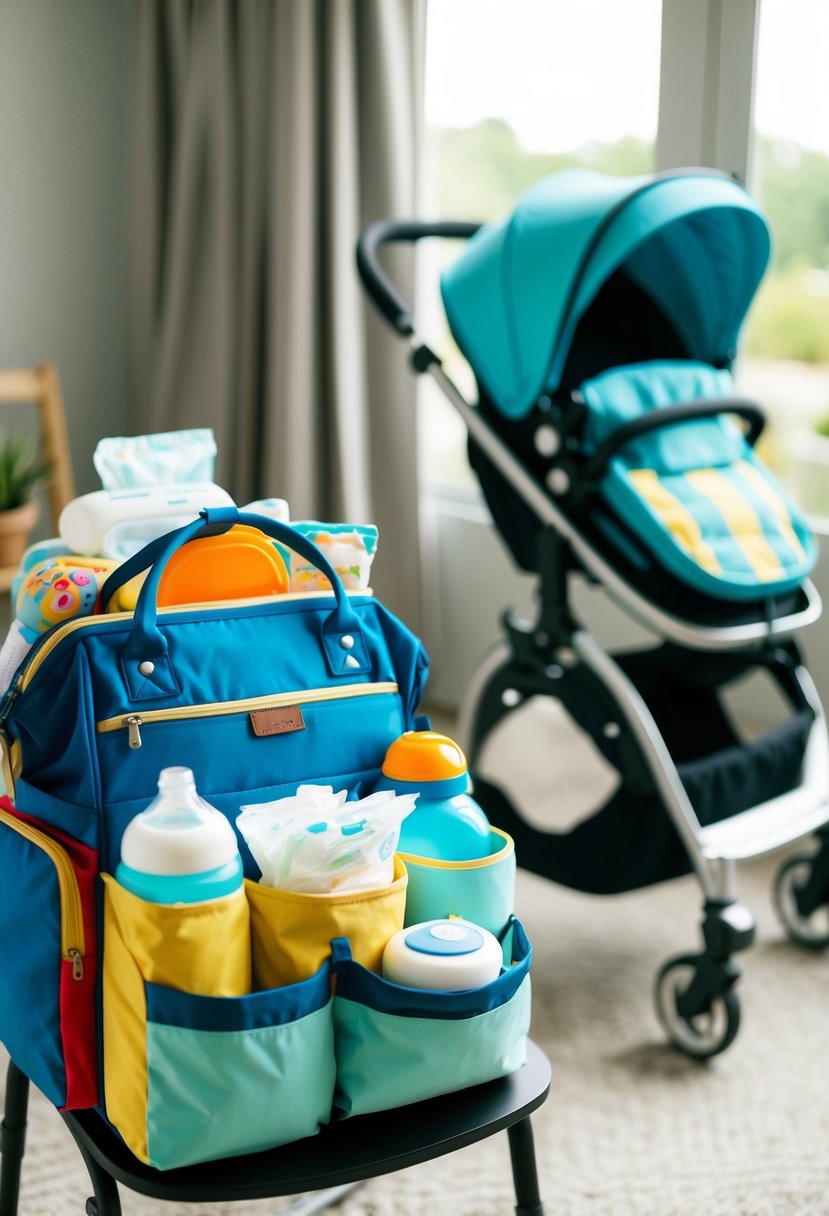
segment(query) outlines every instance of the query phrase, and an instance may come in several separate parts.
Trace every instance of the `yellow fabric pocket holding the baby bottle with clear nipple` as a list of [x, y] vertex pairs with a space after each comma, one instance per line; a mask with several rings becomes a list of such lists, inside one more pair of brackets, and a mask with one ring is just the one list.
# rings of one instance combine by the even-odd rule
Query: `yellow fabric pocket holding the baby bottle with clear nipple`
[[242, 890], [204, 903], [150, 903], [102, 878], [107, 1116], [146, 1161], [146, 984], [202, 996], [249, 992], [250, 917]]

